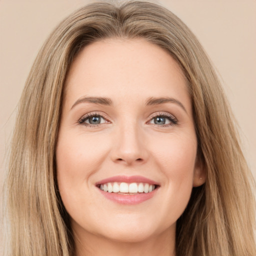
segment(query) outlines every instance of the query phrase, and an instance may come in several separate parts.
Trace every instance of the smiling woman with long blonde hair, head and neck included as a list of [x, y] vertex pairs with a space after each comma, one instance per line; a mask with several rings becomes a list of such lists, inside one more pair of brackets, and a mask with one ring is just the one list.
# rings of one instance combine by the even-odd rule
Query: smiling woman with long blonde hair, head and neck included
[[7, 179], [11, 255], [255, 255], [250, 172], [191, 31], [87, 5], [38, 53]]

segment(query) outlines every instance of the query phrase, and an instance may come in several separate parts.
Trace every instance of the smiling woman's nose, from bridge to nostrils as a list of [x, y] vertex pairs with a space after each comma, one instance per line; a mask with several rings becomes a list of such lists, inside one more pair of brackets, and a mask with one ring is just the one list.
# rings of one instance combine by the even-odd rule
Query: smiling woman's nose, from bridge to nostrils
[[134, 125], [122, 126], [114, 136], [111, 158], [124, 165], [139, 164], [147, 161], [146, 140], [141, 128]]

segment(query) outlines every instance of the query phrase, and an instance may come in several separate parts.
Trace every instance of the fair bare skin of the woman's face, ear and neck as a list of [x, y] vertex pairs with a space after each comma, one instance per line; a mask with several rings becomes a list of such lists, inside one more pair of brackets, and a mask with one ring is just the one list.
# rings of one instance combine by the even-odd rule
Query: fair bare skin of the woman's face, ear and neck
[[[83, 97], [107, 97], [112, 104]], [[183, 107], [146, 105], [150, 97], [174, 98]], [[87, 113], [102, 115], [101, 123], [79, 122]], [[155, 123], [162, 114], [176, 123]], [[144, 39], [85, 46], [67, 75], [56, 147], [57, 183], [76, 255], [174, 255], [176, 220], [192, 187], [205, 181], [196, 149], [186, 82], [165, 50]], [[160, 187], [149, 200], [119, 204], [95, 186], [115, 175], [141, 175]]]

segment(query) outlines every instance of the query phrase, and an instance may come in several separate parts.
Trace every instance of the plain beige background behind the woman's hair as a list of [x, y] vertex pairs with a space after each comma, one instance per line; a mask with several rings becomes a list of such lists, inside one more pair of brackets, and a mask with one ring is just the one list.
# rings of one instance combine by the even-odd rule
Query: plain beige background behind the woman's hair
[[[16, 105], [32, 62], [53, 27], [88, 2], [93, 1], [0, 0], [0, 183]], [[243, 151], [256, 177], [256, 0], [155, 2], [179, 16], [212, 59], [240, 125]]]

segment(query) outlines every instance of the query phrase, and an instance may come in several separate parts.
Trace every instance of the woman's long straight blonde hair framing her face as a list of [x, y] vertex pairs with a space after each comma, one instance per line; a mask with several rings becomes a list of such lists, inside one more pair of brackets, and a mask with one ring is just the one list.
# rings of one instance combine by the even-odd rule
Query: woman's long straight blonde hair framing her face
[[254, 256], [252, 176], [233, 116], [198, 40], [154, 3], [86, 5], [64, 19], [39, 51], [20, 99], [6, 180], [10, 255], [74, 255], [58, 193], [55, 145], [63, 84], [81, 47], [106, 37], [157, 44], [180, 65], [192, 100], [198, 153], [207, 173], [177, 220], [176, 256]]

